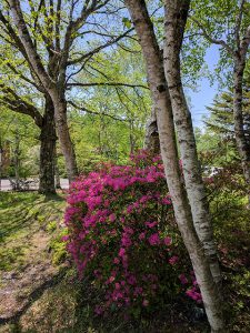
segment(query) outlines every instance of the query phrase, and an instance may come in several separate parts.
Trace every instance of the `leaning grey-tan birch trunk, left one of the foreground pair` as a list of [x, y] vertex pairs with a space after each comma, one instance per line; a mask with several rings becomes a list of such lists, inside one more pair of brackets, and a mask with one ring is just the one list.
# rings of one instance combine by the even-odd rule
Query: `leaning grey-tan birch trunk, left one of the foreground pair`
[[157, 112], [161, 155], [174, 216], [193, 265], [209, 323], [213, 332], [220, 332], [223, 327], [220, 294], [193, 228], [187, 194], [181, 183], [171, 102], [153, 26], [144, 1], [126, 0], [126, 4], [130, 11], [147, 64], [150, 90]]

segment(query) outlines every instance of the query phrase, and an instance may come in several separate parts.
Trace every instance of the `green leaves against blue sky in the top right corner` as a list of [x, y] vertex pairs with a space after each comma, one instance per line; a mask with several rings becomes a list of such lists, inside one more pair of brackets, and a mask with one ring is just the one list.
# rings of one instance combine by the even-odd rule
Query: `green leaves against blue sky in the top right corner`
[[[187, 34], [191, 36], [191, 44], [194, 42], [198, 48], [198, 59], [204, 56], [204, 50], [209, 48], [212, 42], [203, 36], [206, 33], [216, 40], [224, 40], [233, 50], [237, 49], [236, 29], [240, 22], [239, 37], [242, 39], [247, 27], [250, 24], [248, 14], [250, 3], [244, 1], [243, 13], [241, 21], [238, 20], [241, 1], [237, 0], [206, 0], [191, 1], [190, 20], [188, 22]], [[197, 23], [199, 22], [199, 23]], [[200, 28], [202, 26], [202, 29]], [[199, 46], [200, 52], [199, 52]], [[192, 48], [192, 47], [191, 47]], [[218, 46], [220, 58], [216, 69], [210, 73], [211, 81], [217, 78], [221, 87], [228, 88], [232, 82], [232, 64], [233, 57], [223, 47]], [[199, 62], [200, 60], [198, 60]]]

